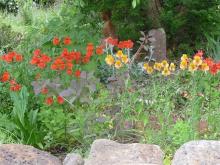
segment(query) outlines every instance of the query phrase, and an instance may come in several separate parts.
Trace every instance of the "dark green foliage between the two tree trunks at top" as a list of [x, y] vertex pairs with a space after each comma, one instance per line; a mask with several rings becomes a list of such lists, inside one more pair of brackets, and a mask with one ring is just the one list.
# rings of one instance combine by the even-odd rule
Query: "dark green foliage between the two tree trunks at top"
[[91, 11], [103, 12], [106, 10], [112, 12], [112, 21], [116, 26], [120, 40], [137, 40], [140, 30], [145, 31], [151, 28], [150, 21], [147, 19], [147, 0], [141, 1], [140, 5], [135, 8], [132, 7], [131, 1], [124, 0], [83, 0], [83, 2], [85, 3], [82, 8], [84, 13], [90, 13]]

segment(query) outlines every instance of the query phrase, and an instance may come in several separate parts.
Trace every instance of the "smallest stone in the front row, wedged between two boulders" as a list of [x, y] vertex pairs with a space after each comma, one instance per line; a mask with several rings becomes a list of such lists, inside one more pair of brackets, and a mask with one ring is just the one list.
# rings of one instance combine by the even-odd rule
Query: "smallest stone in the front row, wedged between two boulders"
[[80, 155], [71, 153], [66, 156], [63, 165], [84, 165], [84, 160]]

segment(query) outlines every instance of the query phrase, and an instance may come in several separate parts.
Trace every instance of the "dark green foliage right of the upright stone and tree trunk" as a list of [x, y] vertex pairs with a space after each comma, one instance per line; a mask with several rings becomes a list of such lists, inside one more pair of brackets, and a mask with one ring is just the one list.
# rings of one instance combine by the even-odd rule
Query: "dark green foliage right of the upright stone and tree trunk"
[[165, 0], [161, 22], [167, 32], [170, 48], [178, 49], [179, 44], [201, 46], [206, 42], [205, 33], [219, 32], [219, 4], [219, 0]]

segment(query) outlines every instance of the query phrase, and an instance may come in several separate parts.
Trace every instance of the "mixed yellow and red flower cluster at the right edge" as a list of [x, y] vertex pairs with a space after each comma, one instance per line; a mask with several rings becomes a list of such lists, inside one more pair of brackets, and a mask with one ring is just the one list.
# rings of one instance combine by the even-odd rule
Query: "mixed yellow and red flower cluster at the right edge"
[[211, 58], [203, 58], [203, 52], [198, 51], [193, 58], [189, 58], [187, 54], [183, 54], [180, 62], [180, 69], [188, 69], [190, 72], [201, 70], [210, 71], [215, 75], [220, 70], [220, 63], [215, 63]]

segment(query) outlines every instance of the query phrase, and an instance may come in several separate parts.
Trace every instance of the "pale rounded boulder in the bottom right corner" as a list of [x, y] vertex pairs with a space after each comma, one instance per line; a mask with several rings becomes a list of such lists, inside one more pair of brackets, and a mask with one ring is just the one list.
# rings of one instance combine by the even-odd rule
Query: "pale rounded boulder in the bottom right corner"
[[220, 165], [220, 141], [191, 141], [175, 153], [172, 165]]

